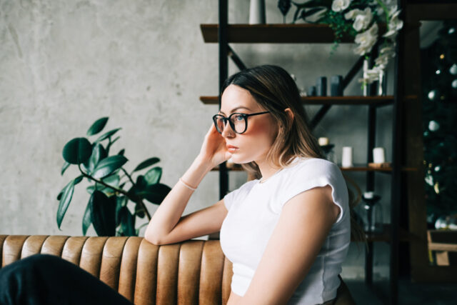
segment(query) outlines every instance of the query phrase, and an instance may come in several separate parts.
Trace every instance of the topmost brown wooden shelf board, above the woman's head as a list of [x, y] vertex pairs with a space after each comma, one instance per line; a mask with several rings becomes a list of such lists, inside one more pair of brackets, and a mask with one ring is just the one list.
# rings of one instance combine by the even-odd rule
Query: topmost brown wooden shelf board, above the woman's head
[[[218, 42], [219, 24], [201, 24], [201, 34], [206, 43]], [[335, 36], [326, 24], [228, 24], [229, 43], [251, 44], [333, 44]], [[341, 43], [353, 43], [345, 36]]]

